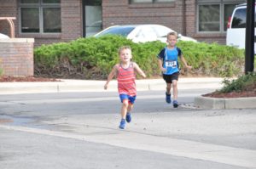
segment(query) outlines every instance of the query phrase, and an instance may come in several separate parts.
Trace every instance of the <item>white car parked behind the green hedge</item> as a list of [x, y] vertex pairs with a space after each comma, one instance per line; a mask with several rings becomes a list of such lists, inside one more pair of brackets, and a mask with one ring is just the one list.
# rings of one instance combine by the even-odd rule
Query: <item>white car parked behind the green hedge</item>
[[[171, 31], [173, 30], [164, 25], [113, 25], [96, 33], [94, 37], [113, 34], [124, 36], [132, 42], [166, 42], [166, 35]], [[178, 34], [178, 40], [197, 42], [192, 37], [183, 37], [181, 34]]]

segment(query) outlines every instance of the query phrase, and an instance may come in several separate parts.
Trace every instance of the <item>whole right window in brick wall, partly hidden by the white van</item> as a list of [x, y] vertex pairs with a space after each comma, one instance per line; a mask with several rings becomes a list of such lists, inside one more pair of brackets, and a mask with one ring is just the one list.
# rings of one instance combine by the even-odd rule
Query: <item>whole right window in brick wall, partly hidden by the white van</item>
[[198, 0], [197, 31], [225, 32], [227, 23], [241, 0]]

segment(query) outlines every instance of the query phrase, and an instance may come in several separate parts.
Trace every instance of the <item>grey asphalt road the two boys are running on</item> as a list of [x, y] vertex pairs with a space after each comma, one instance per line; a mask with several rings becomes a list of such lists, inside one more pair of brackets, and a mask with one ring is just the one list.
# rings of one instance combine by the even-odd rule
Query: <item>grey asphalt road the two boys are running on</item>
[[125, 130], [115, 92], [1, 95], [0, 168], [256, 168], [255, 110], [193, 106], [211, 91], [179, 90], [177, 109], [139, 92]]

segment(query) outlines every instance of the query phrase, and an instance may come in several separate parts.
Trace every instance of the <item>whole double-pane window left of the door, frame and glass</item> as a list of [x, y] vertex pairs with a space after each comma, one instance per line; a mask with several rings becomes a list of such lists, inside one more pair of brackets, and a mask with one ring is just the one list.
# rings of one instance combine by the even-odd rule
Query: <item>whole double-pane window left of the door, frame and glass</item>
[[61, 0], [20, 0], [20, 32], [61, 32], [60, 3]]

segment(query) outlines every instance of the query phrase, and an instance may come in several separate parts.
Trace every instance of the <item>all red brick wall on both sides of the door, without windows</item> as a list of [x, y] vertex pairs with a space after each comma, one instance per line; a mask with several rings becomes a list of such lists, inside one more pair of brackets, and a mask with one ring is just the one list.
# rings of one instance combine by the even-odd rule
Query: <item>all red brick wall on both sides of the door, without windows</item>
[[[0, 0], [0, 16], [16, 17], [15, 37], [34, 38], [34, 46], [53, 42], [68, 42], [82, 37], [82, 0], [61, 0], [60, 34], [20, 34], [19, 0]], [[183, 17], [183, 1], [173, 3], [129, 4], [129, 0], [102, 0], [102, 25], [160, 24], [166, 25], [184, 36], [195, 37], [203, 42], [225, 43], [225, 33], [207, 34], [196, 31], [196, 0], [186, 0], [186, 13]], [[185, 18], [185, 28], [183, 28]], [[6, 20], [0, 20], [0, 32], [9, 35]]]

